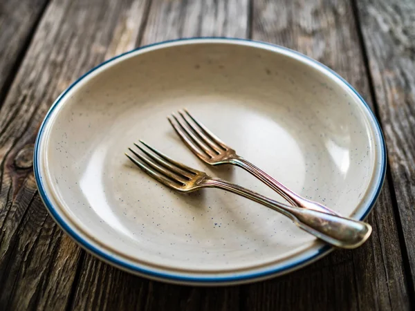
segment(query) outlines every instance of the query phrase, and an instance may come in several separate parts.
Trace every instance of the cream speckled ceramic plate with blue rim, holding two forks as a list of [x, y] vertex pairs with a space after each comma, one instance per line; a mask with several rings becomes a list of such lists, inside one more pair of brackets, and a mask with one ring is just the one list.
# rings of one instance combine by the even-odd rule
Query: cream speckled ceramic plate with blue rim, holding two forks
[[215, 189], [175, 193], [133, 167], [139, 138], [172, 158], [280, 198], [236, 167], [208, 167], [166, 120], [186, 107], [238, 153], [302, 196], [362, 219], [385, 176], [367, 104], [329, 68], [239, 39], [133, 50], [80, 77], [39, 131], [35, 176], [57, 223], [124, 270], [163, 281], [228, 284], [295, 270], [331, 247], [291, 220]]

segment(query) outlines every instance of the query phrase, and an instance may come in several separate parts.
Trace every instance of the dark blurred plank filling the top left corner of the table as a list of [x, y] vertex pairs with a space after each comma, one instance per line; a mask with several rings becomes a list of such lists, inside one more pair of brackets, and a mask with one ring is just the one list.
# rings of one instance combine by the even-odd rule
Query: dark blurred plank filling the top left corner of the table
[[0, 1], [0, 106], [47, 3]]

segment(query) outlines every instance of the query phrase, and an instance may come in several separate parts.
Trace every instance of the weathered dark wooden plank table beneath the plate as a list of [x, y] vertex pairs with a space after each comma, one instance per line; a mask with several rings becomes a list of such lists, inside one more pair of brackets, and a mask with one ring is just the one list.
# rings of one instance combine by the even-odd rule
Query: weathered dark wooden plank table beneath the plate
[[[136, 46], [178, 37], [287, 46], [345, 77], [385, 133], [365, 245], [250, 285], [192, 288], [86, 254], [48, 215], [33, 142], [57, 95]], [[0, 0], [0, 310], [414, 310], [414, 0]]]

